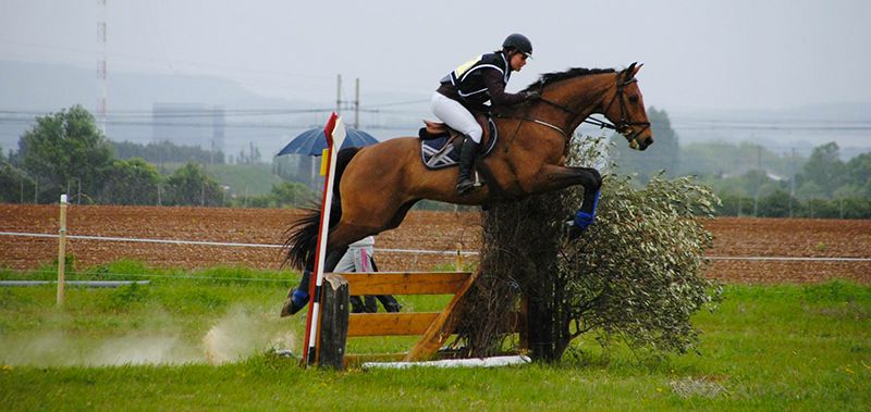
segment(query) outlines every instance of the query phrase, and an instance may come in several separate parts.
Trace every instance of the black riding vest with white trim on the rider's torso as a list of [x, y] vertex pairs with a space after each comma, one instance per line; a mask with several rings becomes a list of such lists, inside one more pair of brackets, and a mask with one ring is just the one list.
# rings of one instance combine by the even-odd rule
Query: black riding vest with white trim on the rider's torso
[[481, 76], [482, 68], [495, 68], [502, 73], [502, 84], [507, 85], [511, 78], [508, 60], [502, 52], [481, 54], [441, 79], [442, 84], [450, 84], [456, 88], [459, 97], [473, 104], [483, 104], [490, 100], [490, 93]]

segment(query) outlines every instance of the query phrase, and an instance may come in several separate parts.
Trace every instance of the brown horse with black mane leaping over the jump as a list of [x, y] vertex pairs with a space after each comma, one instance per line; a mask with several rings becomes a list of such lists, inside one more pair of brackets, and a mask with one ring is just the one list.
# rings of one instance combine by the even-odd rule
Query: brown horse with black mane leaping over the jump
[[[527, 90], [541, 99], [495, 113], [499, 140], [477, 168], [487, 185], [457, 196], [455, 168], [428, 170], [420, 160], [416, 137], [387, 140], [339, 153], [328, 254], [351, 242], [395, 228], [418, 200], [484, 204], [582, 185], [585, 200], [578, 213], [592, 217], [602, 179], [594, 168], [564, 165], [574, 130], [590, 114], [604, 115], [629, 146], [645, 150], [653, 143], [650, 123], [635, 75], [640, 65], [614, 70], [573, 68], [545, 74]], [[310, 210], [287, 230], [287, 263], [298, 269], [314, 264], [319, 224]], [[329, 270], [330, 265], [327, 264]]]

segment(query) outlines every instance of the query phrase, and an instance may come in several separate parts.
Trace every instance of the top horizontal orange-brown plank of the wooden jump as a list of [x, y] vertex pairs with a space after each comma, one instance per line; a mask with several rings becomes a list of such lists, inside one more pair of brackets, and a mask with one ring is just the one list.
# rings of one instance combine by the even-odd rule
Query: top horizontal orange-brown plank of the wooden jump
[[352, 296], [453, 295], [471, 276], [468, 272], [340, 273], [351, 285]]

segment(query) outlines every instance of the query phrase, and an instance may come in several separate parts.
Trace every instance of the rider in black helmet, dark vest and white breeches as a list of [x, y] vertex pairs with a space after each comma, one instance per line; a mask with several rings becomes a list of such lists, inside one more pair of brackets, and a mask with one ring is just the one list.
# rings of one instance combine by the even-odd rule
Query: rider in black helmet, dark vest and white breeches
[[489, 112], [491, 105], [517, 104], [539, 98], [536, 91], [506, 93], [505, 85], [512, 72], [519, 72], [532, 55], [532, 43], [524, 35], [512, 34], [502, 42], [502, 50], [481, 54], [441, 79], [441, 86], [432, 93], [432, 112], [451, 128], [468, 136], [459, 154], [457, 195], [465, 195], [474, 186], [471, 165], [478, 153], [483, 130], [475, 112]]

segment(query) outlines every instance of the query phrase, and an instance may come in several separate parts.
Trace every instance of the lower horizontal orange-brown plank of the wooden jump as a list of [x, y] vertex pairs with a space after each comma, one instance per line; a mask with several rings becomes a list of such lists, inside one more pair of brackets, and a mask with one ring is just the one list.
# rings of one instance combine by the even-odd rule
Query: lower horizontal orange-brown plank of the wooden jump
[[352, 313], [347, 336], [424, 335], [437, 317], [439, 312]]

